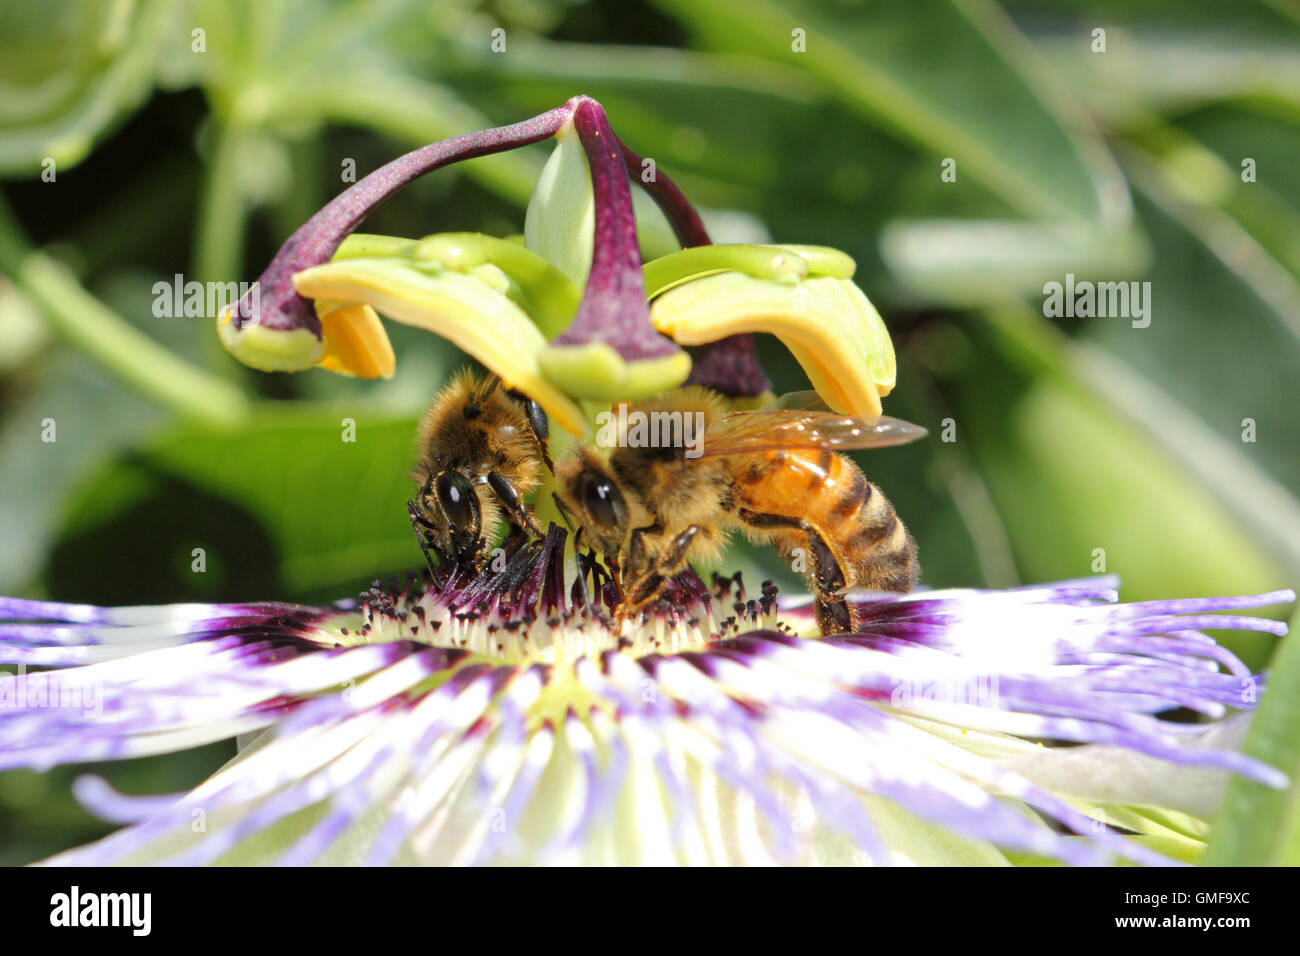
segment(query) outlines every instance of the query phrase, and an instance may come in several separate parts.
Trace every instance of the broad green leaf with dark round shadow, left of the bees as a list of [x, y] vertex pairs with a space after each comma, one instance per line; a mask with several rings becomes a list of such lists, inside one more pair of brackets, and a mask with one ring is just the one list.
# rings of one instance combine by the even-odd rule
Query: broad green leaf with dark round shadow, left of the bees
[[412, 418], [360, 403], [259, 406], [239, 428], [170, 429], [79, 484], [46, 587], [101, 604], [333, 600], [417, 568], [406, 512], [413, 436]]

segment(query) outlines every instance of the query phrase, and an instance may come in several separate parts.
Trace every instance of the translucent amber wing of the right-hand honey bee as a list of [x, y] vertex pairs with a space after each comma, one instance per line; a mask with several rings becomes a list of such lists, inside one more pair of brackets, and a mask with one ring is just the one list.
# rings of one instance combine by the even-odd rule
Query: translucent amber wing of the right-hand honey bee
[[928, 432], [902, 419], [875, 421], [829, 411], [763, 408], [733, 412], [705, 433], [701, 458], [776, 449], [879, 449], [923, 438]]

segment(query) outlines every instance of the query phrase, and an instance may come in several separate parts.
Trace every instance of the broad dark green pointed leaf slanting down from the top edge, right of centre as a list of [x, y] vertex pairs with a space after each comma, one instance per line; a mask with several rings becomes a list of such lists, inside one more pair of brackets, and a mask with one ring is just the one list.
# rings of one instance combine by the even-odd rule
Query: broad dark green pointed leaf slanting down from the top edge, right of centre
[[[800, 66], [844, 103], [1049, 217], [1123, 217], [1118, 170], [993, 4], [660, 0], [710, 46]], [[803, 47], [801, 49], [801, 40]], [[937, 179], [939, 169], [933, 169]]]

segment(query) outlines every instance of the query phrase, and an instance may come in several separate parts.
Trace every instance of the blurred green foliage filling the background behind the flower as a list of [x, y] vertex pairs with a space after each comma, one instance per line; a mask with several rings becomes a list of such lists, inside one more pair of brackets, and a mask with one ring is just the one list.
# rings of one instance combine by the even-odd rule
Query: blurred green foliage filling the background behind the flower
[[[1130, 600], [1294, 585], [1297, 38], [1291, 0], [0, 4], [0, 593], [324, 600], [416, 566], [413, 423], [463, 359], [393, 328], [390, 382], [259, 375], [209, 320], [155, 317], [152, 285], [251, 281], [346, 160], [576, 92], [716, 239], [858, 260], [898, 350], [885, 408], [931, 429], [862, 462], [927, 584], [1089, 575], [1101, 549]], [[426, 177], [367, 230], [517, 233], [545, 155]], [[1149, 281], [1150, 325], [1044, 317], [1066, 273]], [[228, 752], [101, 770], [173, 790]], [[0, 862], [103, 831], [69, 779], [0, 777]]]

